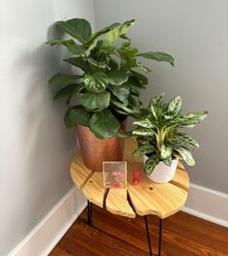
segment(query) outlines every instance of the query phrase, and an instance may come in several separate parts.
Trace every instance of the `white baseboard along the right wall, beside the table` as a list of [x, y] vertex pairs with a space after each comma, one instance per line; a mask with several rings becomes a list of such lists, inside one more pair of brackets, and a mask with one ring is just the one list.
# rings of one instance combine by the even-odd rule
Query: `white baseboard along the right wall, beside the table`
[[228, 194], [191, 183], [183, 210], [228, 228]]

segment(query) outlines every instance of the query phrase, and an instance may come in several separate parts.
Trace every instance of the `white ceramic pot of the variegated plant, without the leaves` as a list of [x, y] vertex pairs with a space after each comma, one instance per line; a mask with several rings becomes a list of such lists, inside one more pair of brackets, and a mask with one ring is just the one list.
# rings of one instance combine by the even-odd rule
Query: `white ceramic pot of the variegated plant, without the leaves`
[[[146, 155], [143, 156], [144, 164], [147, 161], [148, 157]], [[175, 175], [177, 170], [178, 160], [173, 159], [171, 167], [164, 164], [162, 161], [156, 166], [155, 170], [152, 172], [150, 176], [148, 176], [152, 181], [157, 183], [166, 183], [169, 182]]]

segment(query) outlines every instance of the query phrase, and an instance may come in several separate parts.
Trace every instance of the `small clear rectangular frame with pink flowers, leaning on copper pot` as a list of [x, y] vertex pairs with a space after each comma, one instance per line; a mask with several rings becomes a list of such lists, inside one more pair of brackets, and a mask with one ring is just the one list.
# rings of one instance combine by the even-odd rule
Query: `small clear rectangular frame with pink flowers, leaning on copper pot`
[[104, 188], [127, 187], [126, 161], [102, 162], [102, 167]]

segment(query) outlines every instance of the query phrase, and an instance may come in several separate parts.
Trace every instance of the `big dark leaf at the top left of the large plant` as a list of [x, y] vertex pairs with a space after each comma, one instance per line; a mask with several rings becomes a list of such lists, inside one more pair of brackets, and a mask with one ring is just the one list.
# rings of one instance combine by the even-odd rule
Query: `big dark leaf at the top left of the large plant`
[[92, 35], [90, 23], [84, 18], [58, 21], [57, 25], [82, 44], [85, 44]]

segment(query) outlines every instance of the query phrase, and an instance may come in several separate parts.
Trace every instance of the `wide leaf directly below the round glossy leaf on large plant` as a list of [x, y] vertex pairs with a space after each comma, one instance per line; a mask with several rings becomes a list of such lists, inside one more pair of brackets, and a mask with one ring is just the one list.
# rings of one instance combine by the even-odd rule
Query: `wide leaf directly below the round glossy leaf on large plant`
[[81, 97], [81, 104], [88, 110], [103, 110], [109, 106], [110, 92], [86, 92]]

